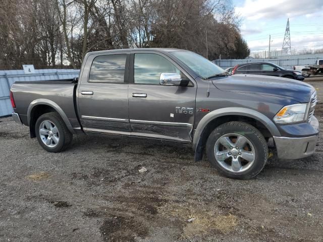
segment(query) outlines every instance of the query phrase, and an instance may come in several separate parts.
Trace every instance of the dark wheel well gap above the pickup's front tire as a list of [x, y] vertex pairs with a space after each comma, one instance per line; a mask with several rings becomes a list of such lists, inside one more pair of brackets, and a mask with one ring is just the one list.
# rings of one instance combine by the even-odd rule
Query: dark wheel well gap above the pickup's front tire
[[199, 139], [199, 142], [197, 144], [197, 148], [196, 148], [197, 154], [195, 154], [195, 160], [200, 160], [202, 158], [201, 157], [202, 152], [205, 148], [206, 140], [209, 134], [218, 126], [232, 121], [240, 121], [240, 122], [244, 122], [249, 125], [252, 125], [253, 127], [255, 127], [260, 131], [260, 133], [263, 135], [266, 141], [268, 141], [269, 138], [273, 137], [271, 132], [261, 122], [259, 122], [258, 120], [252, 117], [247, 117], [242, 115], [225, 115], [225, 116], [217, 117], [211, 120], [211, 122], [209, 122], [204, 128], [201, 134], [201, 137]]

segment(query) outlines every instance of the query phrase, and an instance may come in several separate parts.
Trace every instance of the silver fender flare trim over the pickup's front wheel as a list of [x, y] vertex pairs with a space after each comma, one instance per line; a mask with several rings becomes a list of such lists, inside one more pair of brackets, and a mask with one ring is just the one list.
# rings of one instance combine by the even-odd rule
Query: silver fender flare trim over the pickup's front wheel
[[215, 118], [227, 115], [239, 115], [254, 118], [262, 123], [273, 136], [281, 136], [281, 133], [277, 129], [274, 122], [261, 112], [244, 107], [225, 107], [207, 113], [198, 123], [193, 137], [193, 150], [195, 153], [200, 141], [200, 137], [203, 134], [207, 124]]

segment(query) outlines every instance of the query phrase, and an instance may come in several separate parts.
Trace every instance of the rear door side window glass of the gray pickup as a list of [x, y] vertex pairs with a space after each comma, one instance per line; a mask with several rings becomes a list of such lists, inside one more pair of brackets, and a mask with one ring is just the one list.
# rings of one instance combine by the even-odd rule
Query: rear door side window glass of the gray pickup
[[89, 82], [124, 83], [126, 54], [99, 55], [93, 59]]

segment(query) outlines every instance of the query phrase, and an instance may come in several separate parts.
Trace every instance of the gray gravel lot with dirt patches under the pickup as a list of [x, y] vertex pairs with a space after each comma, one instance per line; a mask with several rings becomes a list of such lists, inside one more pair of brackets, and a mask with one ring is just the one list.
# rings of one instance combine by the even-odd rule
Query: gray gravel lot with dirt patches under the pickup
[[[323, 81], [310, 84], [323, 100]], [[161, 142], [74, 136], [47, 153], [2, 118], [0, 241], [323, 241], [322, 153], [280, 163], [272, 149], [242, 181]]]

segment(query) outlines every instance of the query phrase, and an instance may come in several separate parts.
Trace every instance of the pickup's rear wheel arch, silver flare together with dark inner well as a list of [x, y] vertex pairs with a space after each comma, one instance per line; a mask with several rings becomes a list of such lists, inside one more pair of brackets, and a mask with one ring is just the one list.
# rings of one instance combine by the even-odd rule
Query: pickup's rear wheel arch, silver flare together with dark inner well
[[49, 99], [36, 99], [32, 101], [27, 110], [27, 121], [28, 121], [28, 126], [30, 130], [30, 136], [31, 138], [35, 138], [35, 124], [37, 121], [37, 118], [47, 112], [51, 111], [56, 111], [63, 119], [63, 122], [65, 123], [66, 127], [68, 130], [72, 133], [75, 134], [75, 131], [73, 130], [73, 127], [66, 116], [65, 112], [63, 109], [55, 102], [49, 100]]

